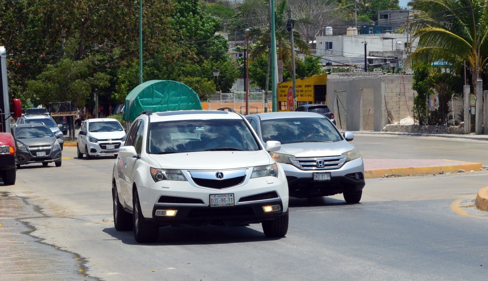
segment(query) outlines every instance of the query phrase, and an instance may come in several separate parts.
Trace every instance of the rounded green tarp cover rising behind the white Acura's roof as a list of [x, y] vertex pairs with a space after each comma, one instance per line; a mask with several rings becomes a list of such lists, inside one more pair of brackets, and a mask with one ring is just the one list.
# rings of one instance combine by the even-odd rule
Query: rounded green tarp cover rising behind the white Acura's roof
[[175, 111], [202, 109], [197, 93], [171, 80], [150, 80], [135, 87], [125, 98], [123, 119], [134, 121], [144, 110]]

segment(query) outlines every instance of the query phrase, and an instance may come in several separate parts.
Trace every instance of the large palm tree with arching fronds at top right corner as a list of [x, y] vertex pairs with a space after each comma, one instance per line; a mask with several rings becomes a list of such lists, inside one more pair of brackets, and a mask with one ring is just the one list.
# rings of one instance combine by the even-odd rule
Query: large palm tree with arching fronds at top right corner
[[[414, 0], [412, 39], [419, 39], [413, 61], [445, 61], [453, 68], [467, 61], [474, 89], [488, 60], [488, 0]], [[480, 26], [478, 26], [480, 24]]]

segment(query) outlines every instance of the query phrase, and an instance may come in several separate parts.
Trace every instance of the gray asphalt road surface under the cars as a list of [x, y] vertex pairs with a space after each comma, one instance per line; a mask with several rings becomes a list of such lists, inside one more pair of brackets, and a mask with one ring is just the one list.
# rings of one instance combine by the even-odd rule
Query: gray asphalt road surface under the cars
[[[353, 144], [367, 158], [488, 159], [486, 142], [454, 148], [451, 140], [356, 136]], [[443, 150], [425, 148], [436, 143]], [[66, 147], [63, 157], [75, 153]], [[0, 280], [485, 280], [488, 273], [488, 220], [451, 209], [488, 185], [486, 172], [368, 180], [360, 204], [342, 195], [292, 199], [282, 239], [266, 239], [259, 224], [163, 227], [157, 243], [136, 244], [132, 232], [113, 227], [113, 161], [29, 165], [16, 185], [0, 186], [0, 248], [8, 246]]]

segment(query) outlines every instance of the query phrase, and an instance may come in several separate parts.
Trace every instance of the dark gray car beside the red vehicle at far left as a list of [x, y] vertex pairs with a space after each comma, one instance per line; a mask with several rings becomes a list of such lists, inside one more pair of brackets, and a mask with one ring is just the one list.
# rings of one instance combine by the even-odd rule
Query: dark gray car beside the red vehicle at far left
[[61, 166], [61, 145], [53, 132], [40, 123], [20, 124], [11, 127], [15, 139], [17, 167], [21, 164], [54, 162]]

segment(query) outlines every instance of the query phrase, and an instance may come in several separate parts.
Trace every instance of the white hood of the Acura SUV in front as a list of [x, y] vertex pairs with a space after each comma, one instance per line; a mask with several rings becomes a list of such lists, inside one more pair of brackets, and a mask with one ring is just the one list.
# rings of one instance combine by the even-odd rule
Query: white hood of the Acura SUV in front
[[163, 169], [224, 170], [269, 165], [274, 161], [265, 150], [201, 151], [174, 154], [150, 154]]

